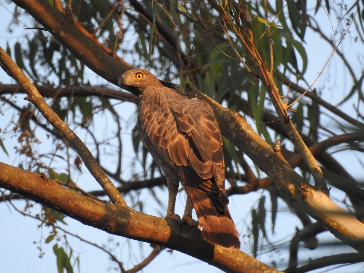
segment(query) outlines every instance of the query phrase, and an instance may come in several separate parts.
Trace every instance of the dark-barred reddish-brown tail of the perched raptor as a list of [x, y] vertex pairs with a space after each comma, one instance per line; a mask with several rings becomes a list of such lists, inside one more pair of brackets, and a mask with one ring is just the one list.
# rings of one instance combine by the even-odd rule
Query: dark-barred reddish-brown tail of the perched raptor
[[185, 188], [196, 211], [199, 223], [203, 226], [202, 237], [207, 242], [224, 248], [240, 248], [239, 234], [226, 205], [218, 210], [207, 192], [200, 187]]

